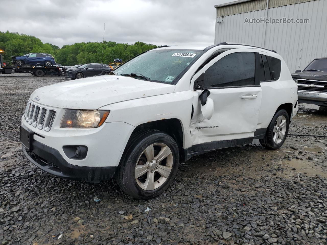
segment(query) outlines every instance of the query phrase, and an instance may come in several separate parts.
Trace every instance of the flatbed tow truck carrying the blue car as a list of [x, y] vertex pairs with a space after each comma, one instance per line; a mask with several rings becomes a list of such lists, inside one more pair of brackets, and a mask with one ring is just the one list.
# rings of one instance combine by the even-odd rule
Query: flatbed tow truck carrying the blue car
[[38, 65], [7, 65], [3, 62], [2, 53], [0, 50], [0, 74], [12, 74], [12, 73], [30, 73], [34, 76], [44, 75], [60, 75], [60, 68], [57, 66], [38, 66]]

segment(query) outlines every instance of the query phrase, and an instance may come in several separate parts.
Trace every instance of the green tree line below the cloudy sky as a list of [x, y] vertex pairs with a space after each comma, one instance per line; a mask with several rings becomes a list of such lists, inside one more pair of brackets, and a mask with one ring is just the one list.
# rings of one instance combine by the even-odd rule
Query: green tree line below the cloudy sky
[[63, 66], [77, 64], [99, 63], [103, 51], [102, 63], [108, 64], [119, 58], [126, 61], [146, 50], [157, 47], [153, 44], [135, 42], [134, 44], [103, 42], [77, 42], [63, 45], [59, 48], [51, 43], [43, 43], [39, 38], [26, 34], [0, 31], [0, 49], [4, 50], [3, 58], [10, 63], [12, 55], [28, 53], [47, 53], [55, 57], [57, 63]]

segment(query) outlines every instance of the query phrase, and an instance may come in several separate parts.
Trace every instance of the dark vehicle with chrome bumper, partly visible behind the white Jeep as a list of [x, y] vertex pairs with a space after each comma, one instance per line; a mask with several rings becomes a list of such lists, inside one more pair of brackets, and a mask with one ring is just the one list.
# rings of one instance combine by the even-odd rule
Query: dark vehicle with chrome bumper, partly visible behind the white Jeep
[[327, 106], [327, 57], [314, 59], [292, 77], [298, 84], [299, 103]]

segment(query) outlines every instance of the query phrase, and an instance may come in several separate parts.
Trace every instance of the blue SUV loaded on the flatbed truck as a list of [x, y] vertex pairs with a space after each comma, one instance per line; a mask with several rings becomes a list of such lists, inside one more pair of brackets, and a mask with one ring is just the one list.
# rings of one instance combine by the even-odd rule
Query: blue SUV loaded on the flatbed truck
[[23, 65], [42, 65], [52, 66], [56, 64], [55, 58], [49, 54], [30, 53], [24, 56], [11, 56], [12, 61], [17, 66]]

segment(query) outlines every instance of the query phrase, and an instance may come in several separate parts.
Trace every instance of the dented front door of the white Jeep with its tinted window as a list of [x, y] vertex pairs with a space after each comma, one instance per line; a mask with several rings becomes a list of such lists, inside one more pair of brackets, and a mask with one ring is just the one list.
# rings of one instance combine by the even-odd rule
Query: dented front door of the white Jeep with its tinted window
[[[255, 49], [227, 50], [206, 64], [191, 81], [204, 73], [203, 90], [214, 102], [210, 120], [203, 117], [202, 93], [196, 90], [191, 120], [192, 151], [209, 151], [250, 143], [257, 127], [262, 91], [255, 79]], [[202, 75], [203, 77], [203, 75]]]

